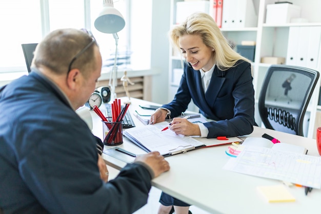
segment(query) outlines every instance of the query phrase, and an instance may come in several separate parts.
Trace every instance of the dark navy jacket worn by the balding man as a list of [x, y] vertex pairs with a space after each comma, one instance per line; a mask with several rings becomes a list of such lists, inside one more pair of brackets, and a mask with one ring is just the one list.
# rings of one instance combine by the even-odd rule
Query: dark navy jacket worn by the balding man
[[104, 183], [96, 138], [43, 76], [33, 71], [7, 85], [0, 111], [4, 213], [129, 214], [147, 203], [148, 169], [128, 164]]

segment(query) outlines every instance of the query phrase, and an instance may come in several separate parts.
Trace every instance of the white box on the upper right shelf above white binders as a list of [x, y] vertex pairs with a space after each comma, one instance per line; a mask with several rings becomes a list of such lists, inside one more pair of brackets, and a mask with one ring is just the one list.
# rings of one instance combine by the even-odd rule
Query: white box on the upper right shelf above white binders
[[291, 18], [299, 18], [301, 7], [289, 3], [267, 5], [266, 24], [290, 23]]

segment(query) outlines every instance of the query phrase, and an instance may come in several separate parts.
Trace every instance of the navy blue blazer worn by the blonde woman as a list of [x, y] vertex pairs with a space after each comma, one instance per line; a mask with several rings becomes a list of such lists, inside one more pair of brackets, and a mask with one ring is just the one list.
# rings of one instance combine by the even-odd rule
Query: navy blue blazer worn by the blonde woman
[[226, 71], [215, 66], [206, 93], [198, 70], [184, 65], [184, 73], [174, 100], [162, 107], [171, 111], [171, 118], [184, 112], [191, 99], [199, 112], [215, 122], [204, 123], [207, 138], [235, 137], [250, 134], [254, 125], [254, 88], [251, 64], [238, 61]]

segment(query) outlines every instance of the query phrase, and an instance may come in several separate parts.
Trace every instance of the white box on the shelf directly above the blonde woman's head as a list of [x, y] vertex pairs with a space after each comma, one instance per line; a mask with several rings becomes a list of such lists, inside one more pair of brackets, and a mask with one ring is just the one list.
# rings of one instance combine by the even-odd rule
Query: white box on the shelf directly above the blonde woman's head
[[176, 24], [184, 22], [192, 13], [204, 12], [209, 14], [210, 1], [188, 1], [188, 2], [177, 2], [176, 3]]

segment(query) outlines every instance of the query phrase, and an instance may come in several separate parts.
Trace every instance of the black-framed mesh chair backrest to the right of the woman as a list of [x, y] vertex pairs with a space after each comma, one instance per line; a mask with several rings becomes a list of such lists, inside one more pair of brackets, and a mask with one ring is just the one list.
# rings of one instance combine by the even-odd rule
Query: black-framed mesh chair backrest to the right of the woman
[[303, 119], [319, 72], [298, 66], [271, 65], [258, 99], [266, 128], [303, 136]]

